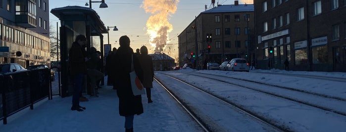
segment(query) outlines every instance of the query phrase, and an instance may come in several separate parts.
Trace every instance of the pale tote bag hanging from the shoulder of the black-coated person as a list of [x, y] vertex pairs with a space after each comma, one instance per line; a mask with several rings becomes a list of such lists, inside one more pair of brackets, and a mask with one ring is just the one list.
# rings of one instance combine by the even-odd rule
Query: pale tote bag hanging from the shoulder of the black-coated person
[[132, 71], [130, 72], [130, 79], [131, 79], [132, 93], [134, 96], [145, 95], [146, 91], [144, 90], [141, 80], [138, 78], [133, 67], [133, 55], [131, 55], [131, 60], [132, 60], [131, 61]]

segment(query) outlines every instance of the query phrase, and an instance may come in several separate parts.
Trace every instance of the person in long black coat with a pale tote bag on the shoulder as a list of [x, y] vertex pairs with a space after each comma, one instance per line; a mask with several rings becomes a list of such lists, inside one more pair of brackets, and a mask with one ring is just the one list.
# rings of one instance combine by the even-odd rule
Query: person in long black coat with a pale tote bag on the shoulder
[[116, 51], [112, 60], [114, 61], [114, 85], [117, 87], [119, 97], [119, 114], [125, 117], [126, 132], [133, 132], [134, 115], [143, 113], [142, 97], [134, 96], [131, 89], [130, 72], [132, 71], [132, 59], [134, 69], [138, 78], [143, 81], [143, 70], [137, 56], [130, 47], [130, 38], [121, 36], [119, 39], [120, 47]]

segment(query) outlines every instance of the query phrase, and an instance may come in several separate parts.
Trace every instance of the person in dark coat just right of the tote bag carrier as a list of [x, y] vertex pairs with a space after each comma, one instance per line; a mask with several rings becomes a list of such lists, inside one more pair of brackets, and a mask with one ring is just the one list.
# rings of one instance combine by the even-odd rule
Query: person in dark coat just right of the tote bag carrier
[[151, 103], [151, 88], [154, 78], [154, 67], [152, 65], [152, 58], [148, 55], [148, 48], [146, 46], [141, 47], [141, 55], [138, 56], [138, 60], [141, 63], [143, 69], [143, 87], [146, 88], [148, 103]]

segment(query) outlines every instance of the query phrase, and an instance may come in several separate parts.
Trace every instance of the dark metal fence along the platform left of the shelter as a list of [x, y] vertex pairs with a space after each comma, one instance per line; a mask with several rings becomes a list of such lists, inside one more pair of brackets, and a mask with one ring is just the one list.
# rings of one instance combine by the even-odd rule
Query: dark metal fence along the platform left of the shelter
[[[55, 72], [55, 70], [57, 72]], [[0, 74], [0, 120], [52, 95], [60, 95], [58, 68]]]

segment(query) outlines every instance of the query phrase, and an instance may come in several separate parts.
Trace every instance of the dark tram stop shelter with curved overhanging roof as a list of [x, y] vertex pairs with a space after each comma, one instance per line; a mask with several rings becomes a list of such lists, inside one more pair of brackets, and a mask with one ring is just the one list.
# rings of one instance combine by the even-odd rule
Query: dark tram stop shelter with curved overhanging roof
[[[96, 11], [89, 7], [65, 6], [51, 9], [50, 12], [60, 20], [61, 97], [66, 97], [72, 95], [73, 92], [68, 56], [75, 37], [79, 34], [87, 37], [87, 52], [90, 53], [92, 36], [99, 36], [101, 60], [103, 60], [102, 33], [108, 33], [108, 31]], [[103, 72], [103, 67], [101, 67], [101, 72]]]

